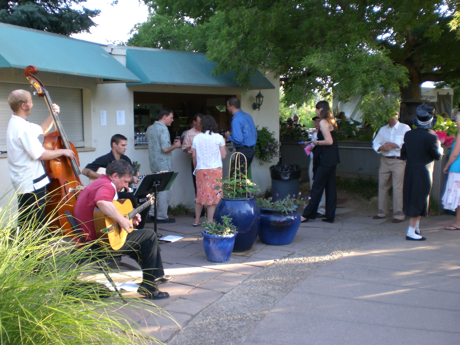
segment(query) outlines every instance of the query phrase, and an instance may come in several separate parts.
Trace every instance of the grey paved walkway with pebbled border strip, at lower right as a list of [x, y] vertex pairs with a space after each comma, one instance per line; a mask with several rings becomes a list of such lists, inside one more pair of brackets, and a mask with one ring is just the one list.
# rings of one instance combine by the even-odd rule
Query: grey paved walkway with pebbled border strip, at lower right
[[460, 344], [460, 231], [451, 216], [302, 224], [322, 242], [282, 258], [185, 323], [169, 345]]

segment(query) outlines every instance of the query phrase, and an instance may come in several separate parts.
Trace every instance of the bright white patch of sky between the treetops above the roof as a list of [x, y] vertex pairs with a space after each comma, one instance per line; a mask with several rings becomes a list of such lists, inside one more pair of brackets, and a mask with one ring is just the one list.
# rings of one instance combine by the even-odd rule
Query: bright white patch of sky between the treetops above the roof
[[[114, 41], [126, 42], [131, 35], [129, 32], [137, 23], [147, 20], [148, 7], [144, 1], [118, 0], [118, 4], [112, 6], [113, 0], [88, 0], [81, 3], [90, 10], [101, 10], [101, 13], [93, 18], [96, 27], [90, 29], [91, 33], [71, 35], [71, 37], [90, 42], [108, 44]], [[74, 6], [81, 8], [81, 6]]]

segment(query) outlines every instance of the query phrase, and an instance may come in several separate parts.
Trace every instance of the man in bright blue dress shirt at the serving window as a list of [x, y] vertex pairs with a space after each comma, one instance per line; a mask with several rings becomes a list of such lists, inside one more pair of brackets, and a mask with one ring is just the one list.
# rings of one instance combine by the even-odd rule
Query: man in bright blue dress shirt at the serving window
[[241, 152], [246, 156], [247, 167], [251, 165], [254, 158], [254, 148], [257, 141], [257, 129], [254, 125], [251, 115], [241, 109], [240, 100], [236, 97], [230, 97], [227, 101], [227, 111], [233, 115], [231, 121], [231, 135], [225, 134], [229, 139], [236, 152]]

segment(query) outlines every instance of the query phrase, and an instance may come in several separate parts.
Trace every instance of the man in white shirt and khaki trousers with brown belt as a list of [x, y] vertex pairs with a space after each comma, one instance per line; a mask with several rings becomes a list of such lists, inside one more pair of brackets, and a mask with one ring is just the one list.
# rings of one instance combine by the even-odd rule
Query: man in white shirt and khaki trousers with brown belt
[[389, 124], [381, 127], [374, 138], [375, 152], [382, 154], [379, 169], [379, 213], [374, 219], [387, 218], [388, 191], [393, 185], [393, 223], [404, 220], [403, 213], [403, 182], [406, 162], [401, 160], [401, 148], [404, 143], [404, 134], [410, 127], [398, 121], [396, 112], [388, 118]]

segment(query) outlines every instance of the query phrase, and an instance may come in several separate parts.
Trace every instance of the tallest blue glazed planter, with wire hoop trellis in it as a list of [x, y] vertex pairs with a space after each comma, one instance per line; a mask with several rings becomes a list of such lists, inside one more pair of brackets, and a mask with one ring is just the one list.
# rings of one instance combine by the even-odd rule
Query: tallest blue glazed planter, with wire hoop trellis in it
[[253, 196], [247, 199], [222, 198], [217, 204], [214, 218], [222, 223], [222, 216], [232, 218], [236, 226], [234, 252], [247, 252], [251, 250], [259, 232], [260, 210]]

